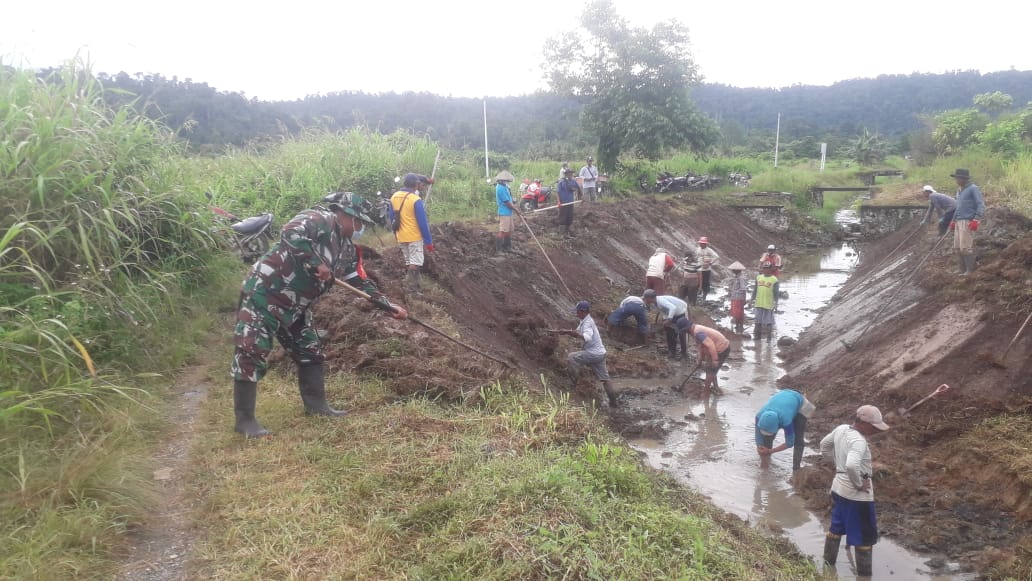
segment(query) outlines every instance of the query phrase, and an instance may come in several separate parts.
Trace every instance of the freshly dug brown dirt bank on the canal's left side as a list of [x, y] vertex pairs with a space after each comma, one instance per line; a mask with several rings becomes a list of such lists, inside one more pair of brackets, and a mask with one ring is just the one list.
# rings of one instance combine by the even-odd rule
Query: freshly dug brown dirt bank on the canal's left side
[[[573, 239], [557, 235], [551, 216], [529, 219], [574, 296], [566, 295], [522, 226], [514, 235], [517, 253], [496, 256], [495, 224], [433, 224], [437, 252], [430, 255], [419, 297], [405, 295], [399, 249], [389, 248], [382, 255], [368, 252], [366, 268], [389, 296], [415, 316], [510, 361], [515, 370], [508, 373], [523, 375], [531, 386], [540, 386], [544, 377], [548, 385], [566, 389], [569, 380], [560, 370], [567, 353], [580, 344], [545, 330], [573, 328], [576, 319], [570, 309], [580, 299], [592, 302], [592, 316], [604, 327], [605, 316], [620, 299], [642, 292], [646, 262], [655, 248], [682, 255], [697, 250], [695, 240], [707, 235], [724, 265], [735, 260], [751, 264], [771, 243], [791, 249], [788, 240], [764, 232], [738, 211], [691, 199], [646, 197], [618, 204], [581, 204], [576, 212]], [[717, 271], [715, 279], [727, 275], [723, 266]], [[419, 327], [383, 317], [343, 291], [324, 297], [315, 317], [317, 326], [326, 331], [331, 369], [384, 378], [402, 396], [425, 392], [466, 398], [507, 375], [501, 365]], [[605, 330], [604, 335], [614, 376], [671, 373], [654, 353], [624, 350], [626, 346]], [[595, 389], [585, 377], [577, 391], [593, 397]]]

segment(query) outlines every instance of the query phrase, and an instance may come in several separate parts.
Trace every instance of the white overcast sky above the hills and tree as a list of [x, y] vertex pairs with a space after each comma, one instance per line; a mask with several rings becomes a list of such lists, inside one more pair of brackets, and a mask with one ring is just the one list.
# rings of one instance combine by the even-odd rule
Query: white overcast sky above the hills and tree
[[[637, 25], [677, 19], [707, 82], [829, 85], [878, 74], [1032, 69], [1024, 2], [615, 0]], [[154, 72], [279, 100], [334, 91], [480, 97], [545, 89], [544, 39], [581, 0], [9, 0], [0, 62]]]

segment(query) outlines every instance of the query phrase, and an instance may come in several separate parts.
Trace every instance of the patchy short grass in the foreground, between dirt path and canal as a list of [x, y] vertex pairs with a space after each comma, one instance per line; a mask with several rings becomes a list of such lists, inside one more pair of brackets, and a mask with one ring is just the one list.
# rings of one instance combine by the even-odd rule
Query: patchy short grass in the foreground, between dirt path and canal
[[212, 400], [194, 576], [816, 577], [784, 542], [642, 467], [565, 397], [489, 386], [446, 407], [348, 376], [328, 391], [346, 419], [303, 417], [292, 383], [268, 378], [259, 414], [277, 433], [260, 442], [229, 429], [228, 396]]

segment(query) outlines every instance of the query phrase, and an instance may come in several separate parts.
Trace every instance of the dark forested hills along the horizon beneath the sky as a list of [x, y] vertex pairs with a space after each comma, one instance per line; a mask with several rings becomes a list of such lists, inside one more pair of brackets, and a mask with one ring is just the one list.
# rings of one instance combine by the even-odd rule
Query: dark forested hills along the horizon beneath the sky
[[[310, 96], [265, 102], [227, 93], [190, 79], [161, 75], [98, 75], [114, 103], [134, 102], [162, 119], [198, 150], [240, 146], [319, 124], [347, 128], [361, 124], [384, 132], [426, 133], [454, 149], [483, 148], [483, 101], [428, 93]], [[882, 135], [904, 134], [921, 125], [920, 116], [971, 106], [974, 95], [1001, 91], [1015, 107], [1032, 101], [1032, 71], [976, 71], [945, 74], [882, 75], [830, 87], [741, 89], [703, 85], [694, 89], [699, 107], [715, 118], [729, 140], [773, 129], [781, 114], [782, 136], [852, 137], [864, 127]], [[138, 98], [137, 98], [138, 97]], [[578, 123], [581, 104], [550, 94], [487, 99], [488, 140], [496, 152], [566, 157], [590, 139]]]

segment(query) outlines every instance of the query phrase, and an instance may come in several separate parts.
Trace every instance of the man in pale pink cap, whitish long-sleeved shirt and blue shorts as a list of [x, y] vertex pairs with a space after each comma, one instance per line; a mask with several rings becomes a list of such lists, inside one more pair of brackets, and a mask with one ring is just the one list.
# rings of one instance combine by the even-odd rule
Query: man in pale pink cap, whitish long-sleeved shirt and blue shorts
[[820, 441], [820, 453], [835, 457], [832, 480], [832, 523], [825, 539], [825, 562], [835, 564], [844, 535], [846, 545], [856, 548], [857, 574], [871, 575], [872, 548], [878, 542], [874, 512], [874, 483], [871, 481], [871, 449], [867, 439], [889, 429], [874, 406], [857, 409], [852, 424], [842, 424]]

